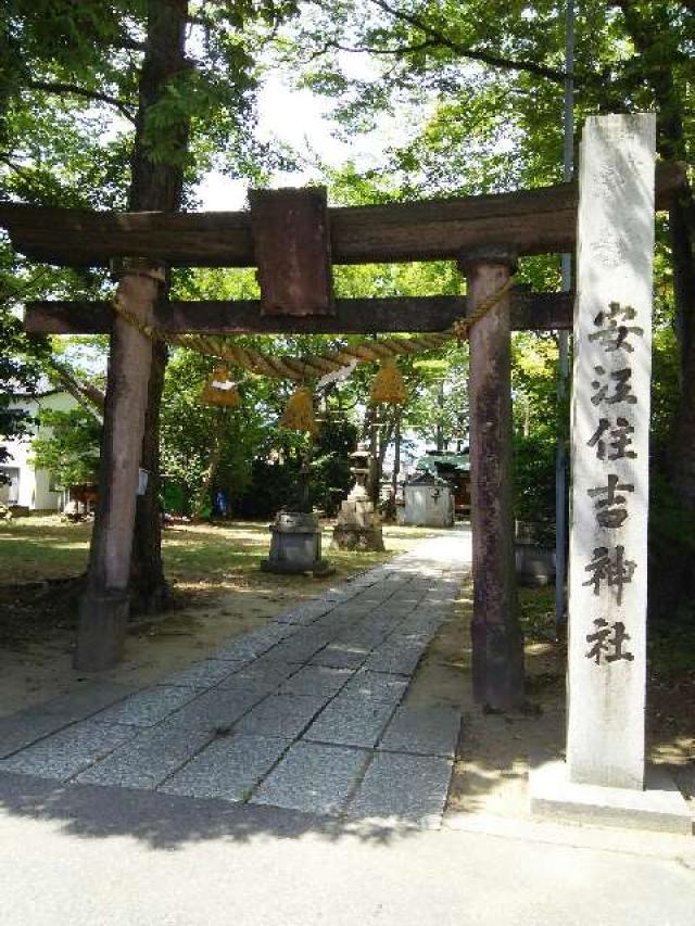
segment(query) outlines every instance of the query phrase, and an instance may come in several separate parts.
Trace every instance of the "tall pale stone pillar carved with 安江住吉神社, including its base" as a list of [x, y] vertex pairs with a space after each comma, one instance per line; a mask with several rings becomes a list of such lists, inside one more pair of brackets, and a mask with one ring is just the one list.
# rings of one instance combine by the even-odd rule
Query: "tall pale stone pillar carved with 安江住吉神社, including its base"
[[[645, 775], [655, 116], [592, 116], [578, 215], [567, 762], [533, 773], [535, 813], [688, 833]], [[649, 770], [647, 769], [647, 772]]]

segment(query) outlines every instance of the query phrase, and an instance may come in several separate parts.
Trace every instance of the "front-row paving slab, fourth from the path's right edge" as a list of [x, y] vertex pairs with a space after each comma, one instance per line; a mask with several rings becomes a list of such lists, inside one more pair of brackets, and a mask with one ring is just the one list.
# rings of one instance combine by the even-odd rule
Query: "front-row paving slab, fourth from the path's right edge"
[[148, 727], [105, 759], [77, 776], [90, 785], [118, 785], [153, 790], [167, 775], [210, 741], [208, 731], [186, 731], [164, 721]]

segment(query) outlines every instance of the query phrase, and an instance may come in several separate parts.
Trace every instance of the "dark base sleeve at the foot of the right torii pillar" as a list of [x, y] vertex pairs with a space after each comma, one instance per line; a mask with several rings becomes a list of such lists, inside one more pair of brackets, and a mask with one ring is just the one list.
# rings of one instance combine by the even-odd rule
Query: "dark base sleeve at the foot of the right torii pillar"
[[523, 634], [516, 626], [473, 619], [473, 699], [496, 711], [520, 710], [523, 690]]

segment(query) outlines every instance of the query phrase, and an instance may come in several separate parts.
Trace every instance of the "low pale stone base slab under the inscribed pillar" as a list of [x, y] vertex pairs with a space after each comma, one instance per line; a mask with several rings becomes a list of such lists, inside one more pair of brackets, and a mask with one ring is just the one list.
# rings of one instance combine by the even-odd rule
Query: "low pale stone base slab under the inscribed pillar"
[[529, 776], [531, 813], [589, 826], [693, 833], [693, 817], [673, 779], [658, 765], [646, 768], [645, 789], [577, 785], [565, 762], [548, 762]]

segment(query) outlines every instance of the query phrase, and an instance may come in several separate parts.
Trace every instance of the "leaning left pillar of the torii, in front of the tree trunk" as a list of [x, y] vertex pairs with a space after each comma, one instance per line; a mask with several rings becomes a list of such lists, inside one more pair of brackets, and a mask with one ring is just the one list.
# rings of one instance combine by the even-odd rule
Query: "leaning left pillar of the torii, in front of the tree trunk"
[[[116, 299], [142, 325], [153, 319], [165, 282], [161, 265], [126, 259]], [[99, 671], [123, 656], [129, 611], [128, 581], [142, 453], [152, 341], [114, 314], [101, 444], [99, 502], [87, 588], [79, 608], [75, 667]]]

